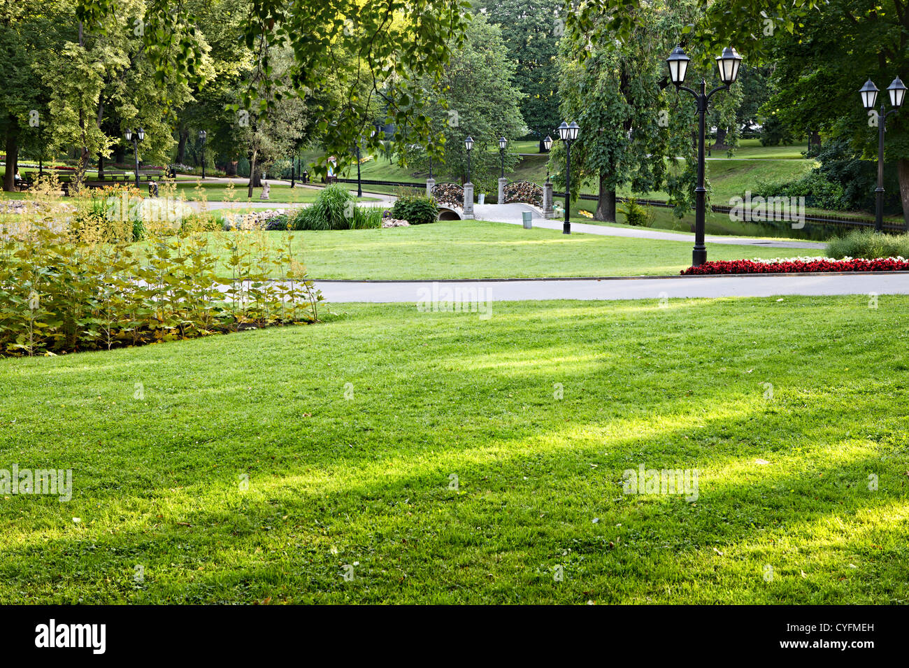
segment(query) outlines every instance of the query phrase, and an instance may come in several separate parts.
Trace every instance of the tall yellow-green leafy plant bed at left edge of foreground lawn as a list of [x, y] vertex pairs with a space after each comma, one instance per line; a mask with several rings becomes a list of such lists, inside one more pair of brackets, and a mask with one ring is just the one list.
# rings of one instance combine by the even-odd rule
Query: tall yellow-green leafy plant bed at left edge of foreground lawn
[[135, 220], [112, 208], [101, 215], [100, 201], [45, 202], [0, 222], [0, 355], [318, 321], [322, 294], [296, 261], [292, 234], [275, 244], [275, 233], [212, 233], [153, 216], [134, 243]]

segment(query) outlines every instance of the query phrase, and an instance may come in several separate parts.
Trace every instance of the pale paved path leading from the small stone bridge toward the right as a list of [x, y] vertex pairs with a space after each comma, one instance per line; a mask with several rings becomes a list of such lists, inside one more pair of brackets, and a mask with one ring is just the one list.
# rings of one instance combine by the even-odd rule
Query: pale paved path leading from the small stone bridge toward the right
[[[547, 220], [532, 206], [527, 204], [474, 204], [474, 214], [477, 220], [488, 220], [494, 223], [522, 224], [522, 214], [530, 211], [534, 214], [534, 227], [543, 227], [547, 230], [561, 230], [561, 220]], [[611, 225], [594, 225], [587, 223], [572, 223], [572, 234], [602, 234], [604, 236], [624, 236], [637, 239], [660, 239], [663, 241], [686, 241], [694, 244], [694, 234], [679, 232], [663, 232], [652, 229], [639, 229], [635, 227], [613, 227]], [[816, 241], [802, 241], [798, 239], [753, 239], [747, 236], [714, 236], [706, 237], [707, 244], [728, 245], [755, 245], [766, 248], [811, 248], [823, 250], [826, 244]]]

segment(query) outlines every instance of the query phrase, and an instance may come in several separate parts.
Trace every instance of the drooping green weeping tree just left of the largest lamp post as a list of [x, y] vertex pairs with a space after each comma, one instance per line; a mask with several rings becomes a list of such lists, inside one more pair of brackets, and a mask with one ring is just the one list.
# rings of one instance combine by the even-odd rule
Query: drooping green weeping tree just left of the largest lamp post
[[[621, 43], [600, 46], [594, 41], [606, 15], [594, 19], [587, 39], [562, 43], [561, 112], [581, 126], [572, 146], [571, 190], [576, 196], [584, 182], [597, 185], [596, 220], [615, 221], [619, 188], [628, 185], [635, 193], [646, 193], [666, 182], [672, 170], [662, 156], [673, 156], [679, 148], [670, 129], [688, 117], [686, 110], [667, 106], [672, 86], [663, 55], [681, 34], [684, 17], [694, 15], [694, 3], [654, 4], [637, 11], [640, 24]], [[550, 167], [560, 170], [564, 164], [564, 146], [558, 143]], [[555, 183], [564, 187], [564, 173], [556, 173]]]

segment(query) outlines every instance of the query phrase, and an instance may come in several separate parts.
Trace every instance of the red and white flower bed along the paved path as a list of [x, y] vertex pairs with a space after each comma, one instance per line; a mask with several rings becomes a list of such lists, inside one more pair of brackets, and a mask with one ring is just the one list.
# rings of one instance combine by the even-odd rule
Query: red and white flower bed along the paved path
[[874, 260], [844, 257], [792, 257], [774, 260], [720, 260], [688, 267], [682, 275], [711, 274], [806, 274], [824, 272], [904, 272], [909, 260], [904, 257], [879, 257]]

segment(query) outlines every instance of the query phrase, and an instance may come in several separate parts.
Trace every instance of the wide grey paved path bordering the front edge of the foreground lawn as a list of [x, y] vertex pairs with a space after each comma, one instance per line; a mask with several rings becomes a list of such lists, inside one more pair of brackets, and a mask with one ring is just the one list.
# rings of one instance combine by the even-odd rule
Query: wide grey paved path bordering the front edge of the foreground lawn
[[[769, 297], [785, 294], [909, 294], [907, 274], [786, 274], [504, 281], [316, 281], [329, 302], [412, 302], [477, 295], [481, 301]], [[435, 297], [433, 296], [435, 295]], [[448, 296], [446, 296], [448, 295]]]

